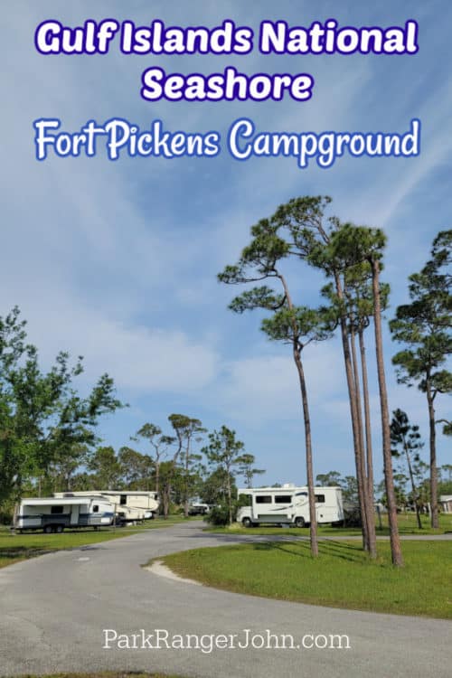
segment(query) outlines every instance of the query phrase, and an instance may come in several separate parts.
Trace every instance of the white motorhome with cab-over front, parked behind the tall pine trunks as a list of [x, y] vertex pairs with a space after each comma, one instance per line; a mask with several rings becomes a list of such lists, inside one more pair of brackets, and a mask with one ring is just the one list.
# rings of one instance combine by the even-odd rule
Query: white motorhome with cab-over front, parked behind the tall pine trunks
[[[307, 487], [283, 485], [239, 490], [239, 496], [249, 497], [249, 505], [237, 513], [237, 521], [245, 527], [261, 523], [305, 527], [310, 523]], [[344, 520], [340, 487], [315, 487], [317, 523], [340, 523]]]

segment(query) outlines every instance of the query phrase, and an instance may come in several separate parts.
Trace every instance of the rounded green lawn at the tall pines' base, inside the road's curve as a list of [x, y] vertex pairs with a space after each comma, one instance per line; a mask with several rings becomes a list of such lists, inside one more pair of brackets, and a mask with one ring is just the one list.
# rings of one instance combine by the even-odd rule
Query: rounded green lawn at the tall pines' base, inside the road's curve
[[452, 617], [452, 541], [405, 541], [404, 568], [391, 565], [390, 545], [371, 561], [356, 541], [306, 541], [197, 549], [165, 556], [171, 570], [207, 586], [252, 596], [423, 617]]

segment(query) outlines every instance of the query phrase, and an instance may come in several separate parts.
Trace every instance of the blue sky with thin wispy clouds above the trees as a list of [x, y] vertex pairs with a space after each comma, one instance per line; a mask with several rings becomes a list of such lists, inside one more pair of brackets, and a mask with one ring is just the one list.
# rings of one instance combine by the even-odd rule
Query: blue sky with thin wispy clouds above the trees
[[[308, 26], [334, 17], [341, 25], [381, 27], [419, 23], [414, 55], [42, 55], [33, 35], [56, 19], [80, 26], [115, 18], [148, 25], [236, 24], [259, 29], [263, 20]], [[217, 274], [249, 240], [250, 226], [299, 195], [326, 194], [344, 221], [381, 227], [388, 235], [384, 279], [391, 283], [385, 359], [390, 408], [406, 410], [426, 440], [425, 396], [397, 384], [387, 331], [398, 304], [408, 299], [408, 276], [428, 259], [431, 241], [450, 228], [452, 58], [446, 0], [374, 5], [319, 0], [278, 3], [227, 0], [18, 0], [3, 12], [4, 101], [0, 167], [3, 209], [0, 315], [20, 306], [29, 339], [49, 367], [60, 350], [84, 356], [80, 390], [99, 375], [115, 380], [129, 407], [104, 418], [105, 444], [130, 445], [145, 422], [169, 430], [173, 412], [201, 419], [210, 430], [233, 428], [257, 466], [259, 483], [306, 480], [297, 373], [287, 345], [268, 342], [259, 314], [228, 310], [236, 288]], [[149, 102], [141, 99], [141, 73], [238, 70], [307, 72], [315, 78], [309, 101]], [[216, 157], [129, 158], [105, 155], [34, 158], [33, 120], [60, 118], [78, 131], [89, 119], [125, 118], [146, 128], [216, 129], [250, 118], [259, 130], [353, 130], [402, 133], [412, 118], [422, 124], [418, 157], [354, 158], [332, 167], [299, 169], [294, 158], [238, 162]], [[323, 278], [290, 269], [297, 303], [315, 305]], [[374, 455], [381, 475], [378, 390], [372, 335], [368, 338]], [[315, 475], [353, 473], [353, 445], [341, 348], [337, 338], [310, 345], [305, 356], [312, 414]], [[450, 416], [438, 399], [438, 418]], [[438, 436], [439, 464], [450, 463], [450, 438]], [[145, 452], [146, 447], [137, 446]]]

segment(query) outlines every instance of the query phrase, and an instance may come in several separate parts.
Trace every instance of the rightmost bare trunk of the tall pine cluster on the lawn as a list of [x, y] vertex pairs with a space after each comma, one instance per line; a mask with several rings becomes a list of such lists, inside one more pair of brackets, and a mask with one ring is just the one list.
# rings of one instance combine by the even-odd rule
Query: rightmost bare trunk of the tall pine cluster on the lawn
[[378, 385], [380, 391], [381, 437], [383, 443], [384, 482], [386, 500], [388, 502], [388, 521], [390, 525], [391, 559], [398, 567], [403, 565], [400, 549], [399, 525], [397, 523], [397, 504], [394, 493], [394, 477], [392, 473], [390, 411], [388, 407], [388, 391], [384, 373], [383, 342], [381, 336], [381, 301], [380, 301], [380, 262], [371, 259], [373, 325], [375, 330], [375, 352], [377, 357]]

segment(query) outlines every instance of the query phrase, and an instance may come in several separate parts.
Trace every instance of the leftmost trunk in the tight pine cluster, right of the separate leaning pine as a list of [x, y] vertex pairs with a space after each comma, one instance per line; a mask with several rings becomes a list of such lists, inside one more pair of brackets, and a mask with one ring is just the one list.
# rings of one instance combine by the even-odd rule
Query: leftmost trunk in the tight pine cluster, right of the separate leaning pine
[[[336, 287], [337, 297], [341, 302], [344, 301], [344, 290], [341, 284], [341, 278], [339, 273], [334, 272], [334, 283]], [[356, 395], [354, 388], [354, 379], [353, 379], [353, 367], [352, 367], [352, 357], [350, 353], [350, 344], [348, 342], [348, 332], [346, 318], [344, 315], [341, 315], [340, 318], [341, 325], [341, 339], [344, 353], [344, 364], [345, 364], [345, 376], [347, 378], [347, 389], [348, 389], [348, 400], [350, 404], [350, 417], [352, 419], [352, 431], [353, 431], [353, 452], [354, 452], [354, 461], [356, 466], [356, 483], [358, 485], [358, 503], [360, 506], [361, 520], [363, 523], [363, 548], [367, 548], [368, 536], [367, 536], [367, 522], [365, 520], [364, 513], [364, 504], [363, 504], [363, 483], [360, 479], [359, 468], [360, 468], [360, 445], [359, 445], [359, 433], [358, 433], [358, 418], [356, 412]]]

